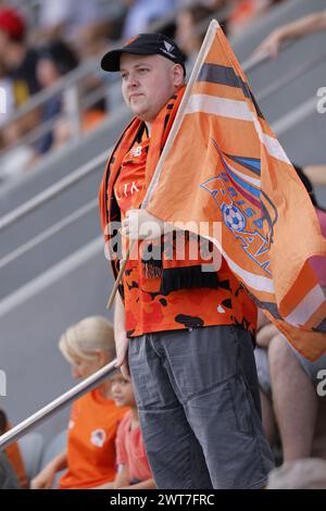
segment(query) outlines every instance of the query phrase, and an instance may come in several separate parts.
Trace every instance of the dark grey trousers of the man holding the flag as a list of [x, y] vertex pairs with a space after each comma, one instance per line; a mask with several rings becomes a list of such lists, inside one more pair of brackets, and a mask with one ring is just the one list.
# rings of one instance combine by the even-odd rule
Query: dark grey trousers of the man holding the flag
[[159, 488], [262, 488], [274, 459], [251, 336], [236, 326], [134, 337], [128, 361]]

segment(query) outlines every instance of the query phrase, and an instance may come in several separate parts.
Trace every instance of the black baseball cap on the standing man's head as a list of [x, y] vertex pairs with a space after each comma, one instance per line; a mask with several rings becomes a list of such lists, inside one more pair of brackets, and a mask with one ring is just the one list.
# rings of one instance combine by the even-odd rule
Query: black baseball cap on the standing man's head
[[120, 58], [122, 53], [133, 53], [137, 55], [160, 54], [180, 64], [186, 75], [186, 58], [173, 39], [164, 34], [139, 34], [128, 39], [123, 48], [108, 51], [101, 60], [101, 67], [104, 71], [120, 71]]

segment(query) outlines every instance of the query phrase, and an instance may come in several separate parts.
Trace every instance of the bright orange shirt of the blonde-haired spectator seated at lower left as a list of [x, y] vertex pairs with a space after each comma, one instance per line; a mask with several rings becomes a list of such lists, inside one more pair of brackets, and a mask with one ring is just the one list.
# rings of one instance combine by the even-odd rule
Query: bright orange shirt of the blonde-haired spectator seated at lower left
[[72, 407], [67, 437], [67, 472], [60, 489], [92, 488], [115, 477], [115, 435], [126, 408], [117, 408], [98, 389]]

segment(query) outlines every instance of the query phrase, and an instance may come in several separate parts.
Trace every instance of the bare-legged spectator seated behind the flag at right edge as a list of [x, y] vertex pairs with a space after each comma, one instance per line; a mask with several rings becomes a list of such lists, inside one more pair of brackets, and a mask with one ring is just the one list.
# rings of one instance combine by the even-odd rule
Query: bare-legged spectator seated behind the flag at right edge
[[[296, 170], [315, 207], [322, 234], [326, 237], [326, 211], [317, 204], [308, 177], [300, 167], [296, 166]], [[318, 283], [326, 289], [325, 258], [311, 258], [310, 264]], [[291, 348], [274, 325], [265, 323], [261, 324], [258, 332], [255, 350], [265, 433], [273, 441], [275, 414], [284, 461], [309, 458], [312, 454], [318, 406], [323, 400], [316, 392], [317, 376], [321, 370], [326, 370], [326, 354], [310, 362]], [[326, 459], [325, 435], [324, 446], [319, 450], [324, 451], [323, 457]]]

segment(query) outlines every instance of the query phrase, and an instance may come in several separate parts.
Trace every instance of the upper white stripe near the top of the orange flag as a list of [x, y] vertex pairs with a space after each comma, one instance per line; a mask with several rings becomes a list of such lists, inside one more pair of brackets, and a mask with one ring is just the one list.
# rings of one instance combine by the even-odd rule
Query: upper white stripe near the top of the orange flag
[[195, 94], [189, 98], [185, 114], [197, 112], [212, 113], [221, 115], [222, 117], [239, 119], [240, 121], [252, 122], [261, 142], [266, 147], [269, 155], [286, 163], [290, 163], [278, 140], [263, 133], [259, 120], [249, 109], [246, 101], [226, 99], [218, 96]]

